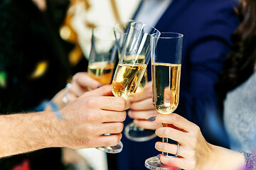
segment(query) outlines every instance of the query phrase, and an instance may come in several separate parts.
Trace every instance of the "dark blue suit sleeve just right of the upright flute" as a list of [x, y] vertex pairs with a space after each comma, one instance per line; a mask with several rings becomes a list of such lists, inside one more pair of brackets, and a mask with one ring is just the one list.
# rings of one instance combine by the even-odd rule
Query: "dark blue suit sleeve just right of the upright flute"
[[184, 34], [180, 102], [176, 113], [196, 123], [206, 140], [227, 147], [221, 103], [214, 86], [223, 60], [230, 52], [230, 37], [239, 22], [232, 6], [225, 2], [222, 5], [205, 11], [201, 17], [197, 11], [193, 18], [197, 18], [198, 23], [190, 29], [170, 29]]

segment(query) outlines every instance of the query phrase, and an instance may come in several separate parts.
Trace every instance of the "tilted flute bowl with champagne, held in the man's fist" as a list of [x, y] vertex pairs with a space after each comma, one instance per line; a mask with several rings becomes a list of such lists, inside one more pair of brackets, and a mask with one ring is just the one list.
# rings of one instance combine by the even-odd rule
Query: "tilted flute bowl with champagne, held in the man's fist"
[[114, 96], [128, 100], [136, 93], [150, 60], [150, 37], [159, 35], [159, 30], [144, 23], [130, 24], [112, 81]]

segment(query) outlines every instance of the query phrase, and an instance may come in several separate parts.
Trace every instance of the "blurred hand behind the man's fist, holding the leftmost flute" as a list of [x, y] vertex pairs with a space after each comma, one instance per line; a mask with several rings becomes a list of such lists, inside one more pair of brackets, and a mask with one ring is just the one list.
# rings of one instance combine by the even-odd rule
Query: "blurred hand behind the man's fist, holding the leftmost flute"
[[102, 84], [89, 77], [86, 72], [79, 72], [72, 78], [71, 87], [66, 95], [68, 102], [75, 101], [76, 98], [82, 96], [86, 91], [89, 91], [88, 89], [94, 90], [100, 86], [102, 86]]

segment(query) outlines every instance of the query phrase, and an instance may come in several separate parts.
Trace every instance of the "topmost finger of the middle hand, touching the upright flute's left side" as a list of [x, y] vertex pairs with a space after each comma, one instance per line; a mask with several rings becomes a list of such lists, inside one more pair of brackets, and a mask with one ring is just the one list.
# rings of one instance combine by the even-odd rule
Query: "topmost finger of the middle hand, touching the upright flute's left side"
[[144, 89], [140, 91], [139, 93], [134, 94], [132, 98], [130, 98], [130, 101], [136, 102], [136, 101], [142, 101], [145, 98], [152, 98], [152, 84], [149, 82], [146, 84]]

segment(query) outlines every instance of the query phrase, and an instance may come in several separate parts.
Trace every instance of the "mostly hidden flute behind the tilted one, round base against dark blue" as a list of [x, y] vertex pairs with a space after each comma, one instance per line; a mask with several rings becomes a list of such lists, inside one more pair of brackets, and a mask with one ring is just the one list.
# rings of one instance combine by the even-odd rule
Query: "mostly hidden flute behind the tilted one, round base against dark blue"
[[[131, 26], [132, 22], [137, 22], [137, 21], [129, 20], [124, 23], [117, 23], [114, 26], [114, 36], [116, 38], [117, 52], [118, 52], [119, 60], [121, 57], [121, 52], [122, 52], [122, 48], [124, 46], [125, 38], [127, 37], [129, 26]], [[137, 23], [139, 23], [139, 22], [137, 22]], [[139, 60], [144, 60], [143, 55], [139, 55], [139, 58], [140, 58]], [[143, 77], [142, 77], [142, 81], [140, 82], [139, 87], [137, 89], [137, 92], [142, 91], [144, 89], [146, 82], [147, 82], [147, 74], [146, 74], [146, 70], [145, 70]], [[140, 128], [135, 123], [129, 123], [129, 125], [127, 125], [124, 128], [124, 135], [129, 140], [132, 140], [135, 142], [145, 142], [147, 140], [151, 140], [154, 137], [156, 137], [155, 130], [146, 130], [144, 128]]]

